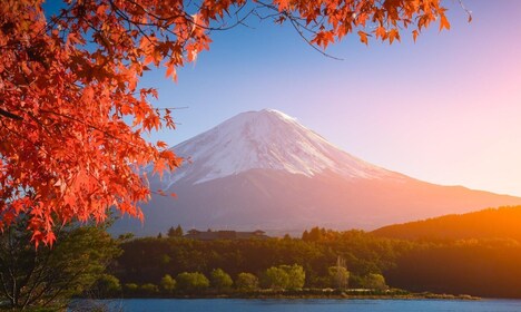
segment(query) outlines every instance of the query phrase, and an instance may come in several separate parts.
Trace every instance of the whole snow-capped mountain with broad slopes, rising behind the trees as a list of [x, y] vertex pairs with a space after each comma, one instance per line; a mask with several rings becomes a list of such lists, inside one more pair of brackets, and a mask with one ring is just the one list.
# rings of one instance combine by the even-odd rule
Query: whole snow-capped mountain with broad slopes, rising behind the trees
[[302, 233], [315, 225], [376, 228], [385, 224], [521, 198], [421, 182], [358, 159], [296, 119], [273, 109], [239, 114], [173, 148], [187, 162], [150, 181], [145, 224], [117, 222], [114, 232], [154, 235], [184, 228], [262, 228]]

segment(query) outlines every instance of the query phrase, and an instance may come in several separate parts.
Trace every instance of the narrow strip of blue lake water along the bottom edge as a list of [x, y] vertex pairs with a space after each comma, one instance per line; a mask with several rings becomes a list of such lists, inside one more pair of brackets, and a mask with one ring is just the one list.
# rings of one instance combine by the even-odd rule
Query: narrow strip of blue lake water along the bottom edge
[[[127, 299], [96, 301], [121, 312], [518, 312], [521, 300], [237, 300]], [[72, 310], [73, 311], [73, 310]]]

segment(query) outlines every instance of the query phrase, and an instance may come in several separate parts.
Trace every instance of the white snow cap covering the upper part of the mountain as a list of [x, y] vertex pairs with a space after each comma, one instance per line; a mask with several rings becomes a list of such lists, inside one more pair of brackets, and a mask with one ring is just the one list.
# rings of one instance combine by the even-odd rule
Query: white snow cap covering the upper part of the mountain
[[173, 149], [188, 162], [165, 176], [167, 187], [181, 179], [198, 184], [249, 169], [309, 177], [324, 172], [346, 178], [397, 175], [351, 156], [274, 109], [242, 113]]

